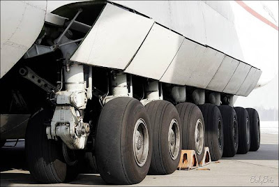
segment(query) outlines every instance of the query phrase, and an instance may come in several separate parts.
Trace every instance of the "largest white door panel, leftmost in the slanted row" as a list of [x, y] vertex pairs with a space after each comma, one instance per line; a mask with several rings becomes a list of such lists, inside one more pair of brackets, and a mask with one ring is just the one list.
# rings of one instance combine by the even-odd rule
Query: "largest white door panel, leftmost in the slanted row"
[[71, 61], [124, 69], [133, 58], [153, 20], [107, 3], [103, 13]]

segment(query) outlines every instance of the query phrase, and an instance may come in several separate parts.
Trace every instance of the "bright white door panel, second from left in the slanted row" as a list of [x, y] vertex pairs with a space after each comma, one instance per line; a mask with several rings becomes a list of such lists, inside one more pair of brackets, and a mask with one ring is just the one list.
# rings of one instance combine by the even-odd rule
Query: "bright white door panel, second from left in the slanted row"
[[178, 52], [183, 39], [183, 36], [154, 24], [125, 72], [160, 80]]

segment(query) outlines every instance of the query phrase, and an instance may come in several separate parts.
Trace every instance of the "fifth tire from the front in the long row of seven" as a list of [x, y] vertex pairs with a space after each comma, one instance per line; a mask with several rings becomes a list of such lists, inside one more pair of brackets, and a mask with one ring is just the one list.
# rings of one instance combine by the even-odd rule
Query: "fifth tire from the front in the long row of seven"
[[218, 107], [223, 119], [224, 151], [223, 157], [232, 157], [239, 147], [239, 128], [234, 108], [228, 105]]

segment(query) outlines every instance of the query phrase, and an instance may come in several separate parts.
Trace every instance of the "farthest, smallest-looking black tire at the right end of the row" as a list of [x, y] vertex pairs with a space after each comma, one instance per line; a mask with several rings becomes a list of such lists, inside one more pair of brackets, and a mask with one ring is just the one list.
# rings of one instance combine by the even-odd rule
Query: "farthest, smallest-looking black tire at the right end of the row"
[[261, 133], [259, 128], [259, 114], [253, 108], [246, 108], [250, 119], [250, 149], [249, 151], [257, 151], [261, 144]]

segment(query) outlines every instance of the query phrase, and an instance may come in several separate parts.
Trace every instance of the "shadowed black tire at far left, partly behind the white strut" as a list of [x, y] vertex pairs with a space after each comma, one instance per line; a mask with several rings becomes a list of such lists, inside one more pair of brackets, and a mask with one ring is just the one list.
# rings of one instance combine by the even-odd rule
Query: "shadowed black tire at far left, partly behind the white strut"
[[45, 122], [52, 118], [50, 110], [41, 110], [29, 119], [25, 136], [25, 151], [29, 171], [43, 184], [63, 183], [75, 179], [76, 166], [69, 166], [63, 158], [60, 141], [47, 140]]

